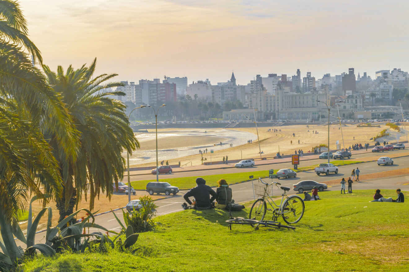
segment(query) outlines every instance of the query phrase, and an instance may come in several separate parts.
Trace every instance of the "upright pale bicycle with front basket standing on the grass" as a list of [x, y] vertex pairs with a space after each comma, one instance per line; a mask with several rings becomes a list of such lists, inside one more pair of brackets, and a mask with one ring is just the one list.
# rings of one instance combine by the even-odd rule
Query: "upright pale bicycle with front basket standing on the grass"
[[[254, 193], [260, 198], [258, 198], [254, 203], [253, 206], [250, 210], [249, 217], [250, 219], [254, 219], [256, 221], [263, 221], [265, 214], [267, 210], [273, 211], [273, 216], [272, 220], [277, 221], [278, 217], [282, 216], [284, 221], [288, 224], [293, 224], [297, 223], [298, 221], [301, 220], [301, 218], [304, 215], [304, 201], [301, 199], [301, 197], [297, 195], [287, 195], [287, 191], [290, 190], [290, 187], [285, 187], [281, 186], [281, 190], [283, 190], [283, 194], [281, 195], [281, 203], [280, 205], [277, 205], [274, 200], [271, 198], [269, 195], [268, 191], [271, 188], [271, 185], [274, 184], [275, 186], [281, 185], [278, 182], [272, 182], [272, 183], [267, 183], [264, 182], [261, 178], [258, 178], [258, 181], [261, 182], [261, 184], [254, 184]], [[268, 197], [268, 198], [267, 198]], [[270, 200], [271, 202], [270, 202]], [[270, 204], [271, 209], [267, 209], [267, 202]], [[274, 208], [274, 206], [276, 208]], [[256, 226], [259, 225], [259, 223], [254, 223]]]

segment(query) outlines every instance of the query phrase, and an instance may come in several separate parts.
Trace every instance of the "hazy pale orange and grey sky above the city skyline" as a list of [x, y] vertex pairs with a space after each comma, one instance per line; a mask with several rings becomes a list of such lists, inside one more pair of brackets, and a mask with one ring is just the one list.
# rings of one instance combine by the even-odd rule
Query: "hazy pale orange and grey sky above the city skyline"
[[316, 78], [409, 70], [409, 1], [20, 0], [52, 69], [90, 63], [117, 80]]

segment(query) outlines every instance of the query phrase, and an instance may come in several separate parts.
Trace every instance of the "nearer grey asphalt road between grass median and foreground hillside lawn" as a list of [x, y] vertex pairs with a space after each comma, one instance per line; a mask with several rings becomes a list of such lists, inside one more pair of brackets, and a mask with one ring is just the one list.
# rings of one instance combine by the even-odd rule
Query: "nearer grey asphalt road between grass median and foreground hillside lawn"
[[[385, 154], [386, 155], [386, 154]], [[276, 181], [279, 181], [282, 186], [288, 186], [292, 188], [292, 185], [297, 183], [298, 181], [305, 180], [305, 179], [312, 179], [317, 182], [324, 182], [332, 179], [339, 179], [341, 180], [342, 177], [348, 177], [348, 175], [351, 173], [351, 170], [353, 167], [359, 167], [361, 170], [361, 175], [366, 175], [366, 174], [371, 174], [371, 173], [376, 173], [376, 172], [382, 172], [385, 170], [393, 170], [393, 169], [402, 169], [402, 168], [407, 168], [409, 165], [409, 156], [407, 157], [401, 157], [401, 158], [395, 158], [394, 159], [394, 164], [391, 166], [378, 166], [376, 162], [367, 162], [367, 163], [362, 163], [362, 164], [356, 164], [356, 165], [351, 165], [351, 166], [342, 166], [339, 167], [339, 173], [338, 174], [330, 174], [329, 176], [317, 176], [315, 172], [313, 171], [307, 171], [307, 172], [299, 172], [297, 173], [296, 178], [290, 178], [290, 179], [279, 179]], [[270, 168], [270, 166], [266, 166], [265, 169]], [[257, 169], [257, 168], [254, 168]], [[242, 169], [233, 169], [233, 170], [242, 170]], [[250, 169], [253, 170], [253, 169]], [[207, 173], [207, 175], [209, 175]], [[270, 179], [267, 179], [267, 181], [270, 181]], [[193, 186], [192, 182], [192, 186]], [[230, 186], [231, 189], [233, 190], [233, 198], [235, 199], [236, 202], [245, 202], [245, 201], [251, 201], [253, 200], [253, 190], [252, 190], [252, 182], [243, 182], [240, 184], [233, 184]], [[357, 189], [373, 189], [375, 190], [376, 188], [382, 189], [396, 189], [400, 187], [402, 190], [409, 190], [409, 176], [402, 176], [402, 177], [393, 177], [389, 179], [373, 179], [370, 181], [365, 181], [365, 182], [354, 182], [353, 184], [353, 190]], [[328, 190], [340, 190], [340, 185], [335, 185], [333, 187], [329, 187]], [[182, 195], [186, 191], [180, 191], [178, 195], [175, 196], [170, 196], [165, 199], [157, 200], [155, 201], [156, 205], [158, 206], [157, 208], [157, 215], [166, 215], [172, 212], [177, 212], [182, 210], [181, 204], [184, 202], [184, 199]], [[292, 189], [290, 190], [290, 194], [294, 194]], [[279, 195], [281, 194], [280, 189], [273, 189], [273, 194], [274, 195]], [[395, 198], [395, 195], [387, 195], [385, 197], [393, 197]], [[369, 199], [370, 200], [370, 199]], [[369, 201], [368, 200], [368, 201]], [[122, 211], [116, 211], [115, 212], [117, 216], [122, 220]], [[118, 231], [120, 230], [119, 224], [117, 223], [115, 217], [112, 215], [112, 213], [108, 213], [105, 215], [100, 215], [95, 218], [95, 222], [101, 226], [104, 226], [105, 228], [109, 230], [115, 230]], [[90, 231], [93, 231], [92, 229]], [[44, 233], [37, 234], [36, 236], [36, 243], [43, 242], [44, 240]]]

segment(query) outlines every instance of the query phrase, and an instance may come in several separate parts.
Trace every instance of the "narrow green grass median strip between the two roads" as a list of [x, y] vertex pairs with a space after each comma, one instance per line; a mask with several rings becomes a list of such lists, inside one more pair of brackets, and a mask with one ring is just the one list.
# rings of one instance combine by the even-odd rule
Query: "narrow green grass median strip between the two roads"
[[[348, 161], [345, 160], [344, 163], [342, 163], [342, 160], [336, 160], [336, 161], [330, 161], [331, 164], [334, 164], [335, 166], [343, 166], [343, 165], [348, 165], [348, 164], [359, 164], [362, 163], [363, 161]], [[318, 164], [310, 165], [310, 166], [304, 166], [304, 167], [299, 167], [297, 172], [301, 171], [306, 171], [306, 170], [313, 170], [315, 167], [317, 167]], [[272, 166], [274, 167], [274, 166]], [[274, 173], [277, 172], [276, 169], [274, 170]], [[207, 175], [207, 176], [202, 176], [206, 180], [206, 184], [209, 186], [217, 186], [217, 181], [219, 179], [225, 179], [228, 184], [234, 184], [238, 182], [243, 182], [249, 180], [249, 176], [253, 175], [255, 179], [258, 177], [268, 177], [268, 171], [254, 171], [254, 172], [240, 172], [240, 173], [232, 173], [232, 174], [219, 174], [219, 175]], [[166, 181], [169, 182], [171, 185], [178, 187], [180, 190], [185, 190], [185, 189], [190, 189], [194, 186], [196, 186], [196, 178], [195, 177], [180, 177], [180, 178], [163, 178], [163, 175], [161, 175], [160, 181]], [[133, 188], [136, 190], [145, 190], [146, 189], [146, 184], [151, 181], [156, 181], [156, 179], [147, 179], [147, 180], [139, 180], [139, 181], [131, 181], [131, 185]]]

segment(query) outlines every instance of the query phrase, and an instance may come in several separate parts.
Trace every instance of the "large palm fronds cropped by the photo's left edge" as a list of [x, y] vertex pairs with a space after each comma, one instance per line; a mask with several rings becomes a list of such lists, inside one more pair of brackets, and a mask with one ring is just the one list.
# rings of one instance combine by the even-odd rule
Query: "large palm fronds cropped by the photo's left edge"
[[[27, 24], [15, 1], [0, 1], [0, 214], [16, 221], [28, 193], [45, 200], [40, 186], [58, 196], [62, 179], [43, 131], [52, 131], [75, 159], [76, 134], [58, 94], [32, 66], [22, 46], [41, 61], [27, 38]], [[5, 230], [7, 228], [1, 228]]]

